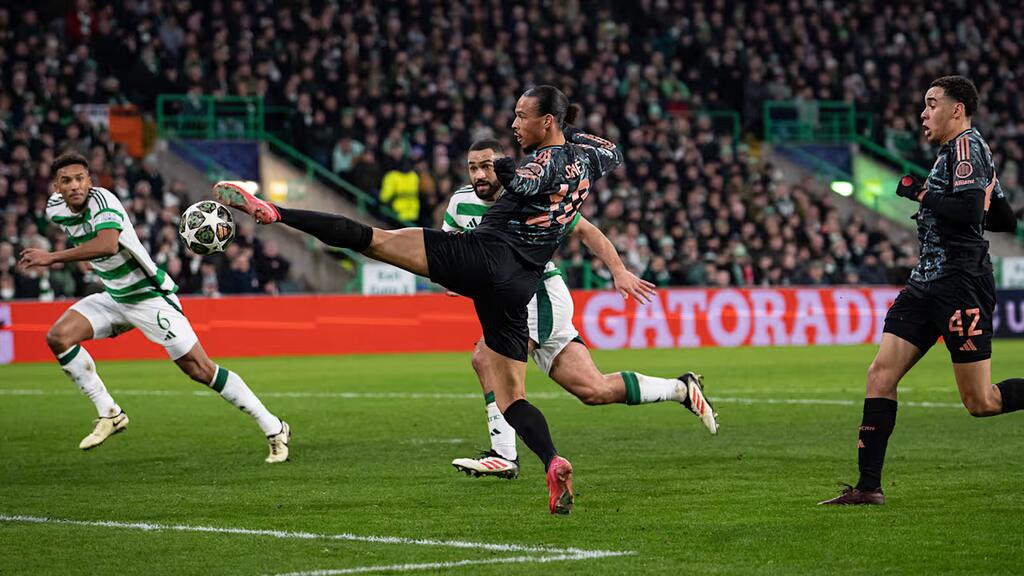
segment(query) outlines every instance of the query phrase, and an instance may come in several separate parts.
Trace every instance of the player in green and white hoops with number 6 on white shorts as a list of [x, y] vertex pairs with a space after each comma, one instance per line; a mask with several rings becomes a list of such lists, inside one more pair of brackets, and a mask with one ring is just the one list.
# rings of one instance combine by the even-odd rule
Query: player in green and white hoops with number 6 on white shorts
[[287, 460], [288, 423], [271, 414], [241, 376], [206, 355], [174, 295], [178, 287], [154, 263], [118, 197], [92, 186], [85, 157], [75, 152], [61, 154], [53, 161], [51, 173], [55, 193], [46, 205], [46, 216], [63, 230], [74, 247], [58, 252], [30, 248], [22, 252], [18, 265], [28, 270], [85, 260], [103, 284], [103, 292], [75, 302], [46, 334], [60, 368], [99, 413], [95, 429], [79, 448], [99, 446], [128, 426], [128, 415], [106, 392], [81, 342], [138, 328], [164, 346], [182, 372], [256, 420], [270, 446], [267, 462]]

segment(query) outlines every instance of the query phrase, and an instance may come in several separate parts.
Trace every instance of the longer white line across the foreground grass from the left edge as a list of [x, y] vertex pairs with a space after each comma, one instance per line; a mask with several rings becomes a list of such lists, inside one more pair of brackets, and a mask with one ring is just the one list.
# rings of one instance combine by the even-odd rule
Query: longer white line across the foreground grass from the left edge
[[268, 536], [271, 538], [287, 538], [298, 540], [341, 540], [346, 542], [368, 542], [374, 544], [403, 544], [413, 546], [431, 546], [446, 548], [462, 548], [475, 550], [490, 550], [502, 552], [534, 552], [555, 556], [580, 556], [582, 558], [605, 558], [629, 556], [632, 551], [614, 550], [584, 550], [581, 548], [556, 548], [553, 546], [527, 546], [523, 544], [495, 544], [489, 542], [472, 542], [467, 540], [434, 540], [430, 538], [404, 538], [400, 536], [358, 536], [355, 534], [317, 534], [314, 532], [294, 532], [290, 530], [254, 530], [250, 528], [222, 528], [216, 526], [191, 526], [185, 524], [155, 524], [147, 522], [118, 522], [108, 520], [69, 520], [35, 516], [0, 513], [0, 522], [22, 524], [57, 524], [62, 526], [86, 526], [93, 528], [120, 528], [126, 530], [141, 530], [143, 532], [203, 532], [213, 534], [231, 534], [242, 536]]

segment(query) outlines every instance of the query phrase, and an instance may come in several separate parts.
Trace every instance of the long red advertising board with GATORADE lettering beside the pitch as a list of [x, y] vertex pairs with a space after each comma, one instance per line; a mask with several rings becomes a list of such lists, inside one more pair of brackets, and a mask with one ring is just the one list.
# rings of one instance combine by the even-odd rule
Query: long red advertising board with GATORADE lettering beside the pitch
[[[593, 348], [878, 342], [896, 287], [664, 289], [647, 305], [577, 291], [574, 322]], [[480, 335], [467, 298], [303, 295], [184, 297], [212, 357], [466, 352]], [[0, 303], [0, 364], [52, 362], [45, 335], [70, 302]], [[254, 314], [253, 311], [259, 311]], [[1024, 290], [1001, 290], [998, 337], [1024, 337]], [[88, 344], [97, 360], [161, 359], [138, 331]]]

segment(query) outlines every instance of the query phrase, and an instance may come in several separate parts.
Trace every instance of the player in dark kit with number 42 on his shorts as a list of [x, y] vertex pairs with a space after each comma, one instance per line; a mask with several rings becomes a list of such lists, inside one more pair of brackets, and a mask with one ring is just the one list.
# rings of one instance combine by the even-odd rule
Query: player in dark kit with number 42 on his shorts
[[882, 464], [896, 424], [896, 386], [936, 342], [945, 340], [961, 400], [973, 416], [1024, 408], [1024, 378], [991, 383], [995, 285], [984, 232], [1015, 232], [988, 145], [971, 117], [978, 90], [962, 76], [932, 82], [922, 126], [939, 157], [925, 182], [903, 176], [897, 194], [921, 204], [914, 218], [921, 261], [886, 315], [867, 369], [857, 443], [860, 480], [821, 504], [884, 504]]

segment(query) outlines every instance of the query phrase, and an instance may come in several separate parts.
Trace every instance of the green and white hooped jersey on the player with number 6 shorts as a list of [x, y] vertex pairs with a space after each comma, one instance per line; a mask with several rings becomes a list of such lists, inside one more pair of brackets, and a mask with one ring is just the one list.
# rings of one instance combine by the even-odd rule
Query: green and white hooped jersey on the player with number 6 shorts
[[174, 281], [157, 268], [142, 247], [121, 200], [111, 191], [89, 189], [85, 211], [78, 214], [71, 211], [59, 194], [54, 194], [46, 204], [46, 217], [60, 227], [69, 243], [76, 246], [92, 240], [101, 230], [120, 231], [118, 253], [90, 260], [93, 274], [116, 302], [131, 304], [177, 292]]

